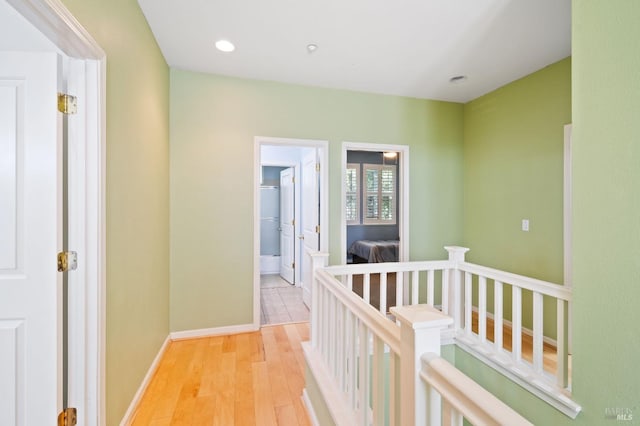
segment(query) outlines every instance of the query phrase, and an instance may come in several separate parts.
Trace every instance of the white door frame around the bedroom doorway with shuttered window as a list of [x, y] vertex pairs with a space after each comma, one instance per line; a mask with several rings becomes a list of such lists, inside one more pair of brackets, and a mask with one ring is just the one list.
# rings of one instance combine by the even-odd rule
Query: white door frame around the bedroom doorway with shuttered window
[[400, 214], [398, 215], [398, 233], [400, 234], [400, 247], [398, 260], [406, 262], [409, 260], [409, 146], [408, 145], [389, 145], [375, 144], [363, 142], [343, 142], [342, 143], [342, 161], [341, 161], [341, 178], [340, 178], [340, 260], [347, 263], [347, 217], [345, 215], [345, 201], [347, 197], [344, 182], [346, 182], [347, 170], [347, 151], [394, 151], [400, 153], [398, 167], [398, 183], [400, 194]]

